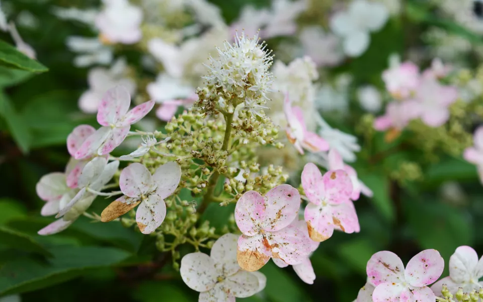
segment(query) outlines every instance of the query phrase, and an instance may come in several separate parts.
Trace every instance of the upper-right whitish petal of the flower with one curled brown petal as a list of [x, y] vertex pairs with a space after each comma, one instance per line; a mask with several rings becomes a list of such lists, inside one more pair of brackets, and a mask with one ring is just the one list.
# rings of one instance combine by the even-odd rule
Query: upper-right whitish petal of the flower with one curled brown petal
[[152, 181], [156, 194], [163, 199], [173, 194], [181, 180], [181, 167], [176, 162], [168, 162], [154, 171]]

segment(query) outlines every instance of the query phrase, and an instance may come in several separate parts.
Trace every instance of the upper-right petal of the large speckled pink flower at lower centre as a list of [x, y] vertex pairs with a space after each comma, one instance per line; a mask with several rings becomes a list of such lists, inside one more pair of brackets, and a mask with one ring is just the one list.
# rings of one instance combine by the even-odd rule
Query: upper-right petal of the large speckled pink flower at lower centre
[[279, 231], [297, 217], [300, 208], [300, 194], [291, 185], [279, 185], [265, 194], [265, 219], [263, 229]]

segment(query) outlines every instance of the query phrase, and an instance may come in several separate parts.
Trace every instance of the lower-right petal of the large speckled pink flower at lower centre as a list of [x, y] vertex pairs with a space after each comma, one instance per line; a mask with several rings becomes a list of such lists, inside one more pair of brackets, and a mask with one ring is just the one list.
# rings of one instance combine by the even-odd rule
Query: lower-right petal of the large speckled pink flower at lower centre
[[311, 252], [310, 238], [293, 224], [270, 233], [267, 238], [272, 247], [272, 258], [280, 258], [290, 265], [301, 263]]

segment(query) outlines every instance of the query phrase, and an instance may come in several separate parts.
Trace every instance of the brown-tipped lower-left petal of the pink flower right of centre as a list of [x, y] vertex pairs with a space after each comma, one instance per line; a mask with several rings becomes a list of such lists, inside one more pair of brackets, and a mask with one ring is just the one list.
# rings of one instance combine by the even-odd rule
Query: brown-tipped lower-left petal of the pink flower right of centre
[[307, 222], [308, 235], [316, 242], [323, 242], [331, 238], [334, 233], [332, 207], [309, 203], [305, 207], [304, 218]]

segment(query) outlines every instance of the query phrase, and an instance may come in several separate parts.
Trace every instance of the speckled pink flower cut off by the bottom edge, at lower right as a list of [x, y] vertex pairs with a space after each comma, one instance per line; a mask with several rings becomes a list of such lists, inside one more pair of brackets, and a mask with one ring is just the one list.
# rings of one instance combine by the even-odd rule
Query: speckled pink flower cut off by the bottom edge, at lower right
[[367, 277], [376, 288], [373, 302], [434, 302], [436, 297], [427, 286], [438, 280], [444, 260], [436, 250], [424, 250], [404, 268], [396, 254], [377, 252], [367, 262]]

